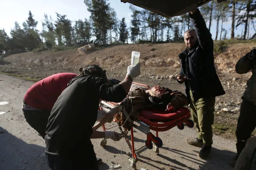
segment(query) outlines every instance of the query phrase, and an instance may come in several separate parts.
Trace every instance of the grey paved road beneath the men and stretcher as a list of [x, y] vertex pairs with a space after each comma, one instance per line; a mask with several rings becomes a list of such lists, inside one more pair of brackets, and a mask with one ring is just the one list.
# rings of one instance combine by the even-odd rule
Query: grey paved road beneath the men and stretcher
[[[0, 74], [0, 169], [40, 169], [47, 170], [44, 158], [44, 140], [24, 120], [21, 110], [23, 97], [34, 82]], [[8, 102], [6, 104], [5, 102]], [[4, 104], [4, 105], [2, 105]], [[113, 124], [114, 125], [114, 124]], [[107, 124], [106, 126], [110, 126]], [[101, 129], [102, 130], [102, 129]], [[153, 132], [154, 133], [154, 132]], [[144, 144], [146, 135], [136, 130], [135, 148]], [[200, 159], [199, 148], [186, 144], [186, 139], [196, 136], [194, 128], [177, 127], [159, 132], [163, 147], [159, 154], [143, 148], [137, 151], [137, 169], [148, 170], [232, 170], [229, 160], [235, 155], [235, 142], [214, 136], [210, 156]], [[97, 157], [103, 159], [100, 170], [107, 170], [113, 164], [121, 169], [129, 166], [130, 150], [122, 139], [119, 142], [108, 140], [102, 148], [100, 139], [92, 140]]]

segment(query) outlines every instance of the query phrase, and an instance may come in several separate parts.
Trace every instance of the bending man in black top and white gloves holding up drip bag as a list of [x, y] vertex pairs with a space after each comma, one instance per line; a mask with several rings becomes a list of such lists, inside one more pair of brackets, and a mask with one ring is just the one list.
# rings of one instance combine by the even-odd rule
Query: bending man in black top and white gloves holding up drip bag
[[115, 86], [108, 82], [106, 71], [98, 65], [89, 65], [79, 71], [58, 97], [48, 119], [46, 160], [54, 170], [98, 169], [90, 138], [120, 140], [117, 132], [93, 132], [99, 101], [121, 102], [133, 78], [140, 74], [140, 66], [129, 65], [125, 79]]

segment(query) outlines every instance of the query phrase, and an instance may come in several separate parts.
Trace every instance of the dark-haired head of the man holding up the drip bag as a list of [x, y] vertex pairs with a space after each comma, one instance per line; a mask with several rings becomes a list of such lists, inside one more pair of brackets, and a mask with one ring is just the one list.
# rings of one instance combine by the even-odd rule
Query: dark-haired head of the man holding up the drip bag
[[84, 68], [79, 68], [79, 75], [97, 75], [103, 79], [107, 79], [106, 70], [103, 70], [99, 65], [87, 65]]

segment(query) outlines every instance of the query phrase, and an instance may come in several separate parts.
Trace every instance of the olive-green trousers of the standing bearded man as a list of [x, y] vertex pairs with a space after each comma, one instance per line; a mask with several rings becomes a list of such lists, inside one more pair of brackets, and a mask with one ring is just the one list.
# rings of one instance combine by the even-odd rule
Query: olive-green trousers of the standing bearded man
[[204, 145], [210, 146], [212, 145], [215, 97], [200, 98], [198, 101], [194, 101], [191, 90], [189, 94], [191, 117], [196, 124], [198, 139], [203, 140]]

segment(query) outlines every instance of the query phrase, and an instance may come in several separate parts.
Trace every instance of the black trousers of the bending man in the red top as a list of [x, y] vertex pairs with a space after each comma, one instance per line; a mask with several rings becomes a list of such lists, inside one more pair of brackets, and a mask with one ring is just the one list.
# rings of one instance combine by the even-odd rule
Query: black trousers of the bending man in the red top
[[50, 111], [32, 111], [26, 109], [22, 109], [22, 111], [27, 123], [44, 138]]

